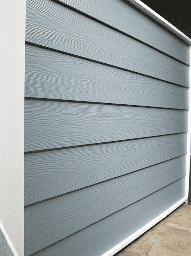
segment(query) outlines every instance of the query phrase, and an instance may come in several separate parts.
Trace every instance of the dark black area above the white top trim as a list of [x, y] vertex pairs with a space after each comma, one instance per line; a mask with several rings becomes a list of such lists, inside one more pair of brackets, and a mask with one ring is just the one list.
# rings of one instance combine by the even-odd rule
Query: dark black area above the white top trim
[[191, 38], [191, 8], [189, 1], [141, 0], [148, 7]]

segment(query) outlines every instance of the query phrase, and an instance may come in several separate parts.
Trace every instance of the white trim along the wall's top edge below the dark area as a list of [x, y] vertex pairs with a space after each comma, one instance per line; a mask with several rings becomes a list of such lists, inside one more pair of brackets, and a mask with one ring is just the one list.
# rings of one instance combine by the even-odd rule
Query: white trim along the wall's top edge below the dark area
[[140, 0], [128, 0], [128, 2], [132, 3], [134, 6], [138, 7], [140, 10], [142, 10], [144, 13], [149, 15], [154, 20], [158, 21], [161, 25], [168, 28], [170, 31], [172, 31], [175, 35], [179, 36], [181, 39], [183, 39], [186, 43], [191, 45], [191, 39], [183, 34], [178, 28], [173, 26], [170, 22], [162, 18], [158, 13], [156, 13], [154, 10], [152, 10], [150, 7], [148, 7], [146, 4], [141, 2]]

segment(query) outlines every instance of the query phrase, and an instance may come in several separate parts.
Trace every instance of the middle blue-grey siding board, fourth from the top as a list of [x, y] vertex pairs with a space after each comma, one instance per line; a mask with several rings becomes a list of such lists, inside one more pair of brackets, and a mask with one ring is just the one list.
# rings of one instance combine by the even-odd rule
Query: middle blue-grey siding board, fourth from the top
[[187, 110], [25, 100], [25, 152], [187, 130]]

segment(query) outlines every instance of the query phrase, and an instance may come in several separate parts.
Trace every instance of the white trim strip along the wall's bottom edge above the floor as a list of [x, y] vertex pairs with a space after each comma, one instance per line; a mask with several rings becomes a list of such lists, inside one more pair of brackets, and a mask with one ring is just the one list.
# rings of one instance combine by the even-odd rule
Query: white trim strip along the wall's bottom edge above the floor
[[145, 233], [147, 230], [149, 230], [150, 228], [152, 228], [152, 226], [154, 226], [155, 224], [157, 224], [159, 221], [161, 221], [163, 218], [165, 218], [167, 215], [169, 215], [170, 213], [172, 213], [172, 211], [174, 211], [176, 208], [178, 208], [181, 204], [183, 204], [186, 200], [188, 200], [188, 197], [184, 197], [182, 198], [180, 201], [178, 201], [177, 203], [175, 203], [175, 205], [171, 206], [168, 210], [164, 211], [163, 213], [161, 213], [158, 217], [156, 217], [154, 220], [150, 221], [149, 223], [147, 223], [145, 226], [143, 226], [142, 228], [140, 228], [138, 231], [136, 231], [135, 233], [133, 233], [133, 235], [129, 236], [128, 238], [126, 238], [125, 240], [123, 240], [121, 243], [117, 244], [116, 246], [114, 246], [112, 249], [110, 249], [109, 251], [107, 251], [106, 253], [102, 254], [102, 256], [112, 256], [115, 253], [117, 253], [118, 251], [120, 251], [121, 249], [123, 249], [125, 246], [127, 246], [129, 243], [133, 242], [136, 238], [138, 238], [139, 236], [141, 236], [143, 233]]

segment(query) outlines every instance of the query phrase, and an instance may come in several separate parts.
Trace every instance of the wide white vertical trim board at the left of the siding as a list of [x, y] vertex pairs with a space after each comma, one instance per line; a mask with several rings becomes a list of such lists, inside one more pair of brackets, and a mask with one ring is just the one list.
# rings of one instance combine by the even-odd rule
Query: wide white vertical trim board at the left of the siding
[[24, 256], [25, 19], [26, 0], [0, 0], [0, 228], [19, 256]]

